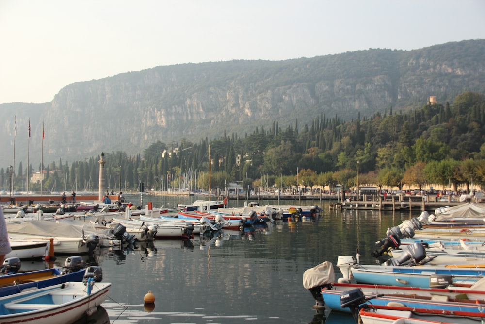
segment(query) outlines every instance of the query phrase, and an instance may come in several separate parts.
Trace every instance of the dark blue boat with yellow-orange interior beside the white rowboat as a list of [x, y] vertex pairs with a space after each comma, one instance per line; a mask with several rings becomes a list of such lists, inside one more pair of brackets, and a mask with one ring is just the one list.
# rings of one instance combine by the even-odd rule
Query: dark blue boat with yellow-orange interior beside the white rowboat
[[70, 256], [65, 259], [62, 268], [49, 268], [35, 271], [20, 272], [21, 261], [18, 258], [8, 258], [0, 267], [0, 297], [12, 295], [27, 289], [39, 289], [58, 285], [68, 281], [82, 281], [86, 276], [102, 280], [102, 269], [89, 266], [80, 256]]

